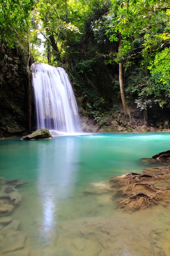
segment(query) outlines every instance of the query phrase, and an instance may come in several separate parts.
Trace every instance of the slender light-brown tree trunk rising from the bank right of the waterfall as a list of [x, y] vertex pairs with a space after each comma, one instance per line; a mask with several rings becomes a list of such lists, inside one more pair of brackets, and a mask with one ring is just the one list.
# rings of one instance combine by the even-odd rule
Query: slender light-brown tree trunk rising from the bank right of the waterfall
[[[118, 53], [120, 53], [120, 48], [122, 45], [122, 40], [121, 40], [121, 34], [119, 33], [119, 50]], [[125, 93], [124, 93], [124, 83], [123, 83], [123, 64], [122, 62], [119, 62], [119, 87], [120, 87], [120, 94], [121, 94], [121, 101], [122, 101], [122, 105], [123, 108], [125, 110], [125, 112], [128, 114], [129, 118], [131, 119], [131, 115], [130, 115], [130, 109], [126, 103], [126, 98], [125, 98]]]

